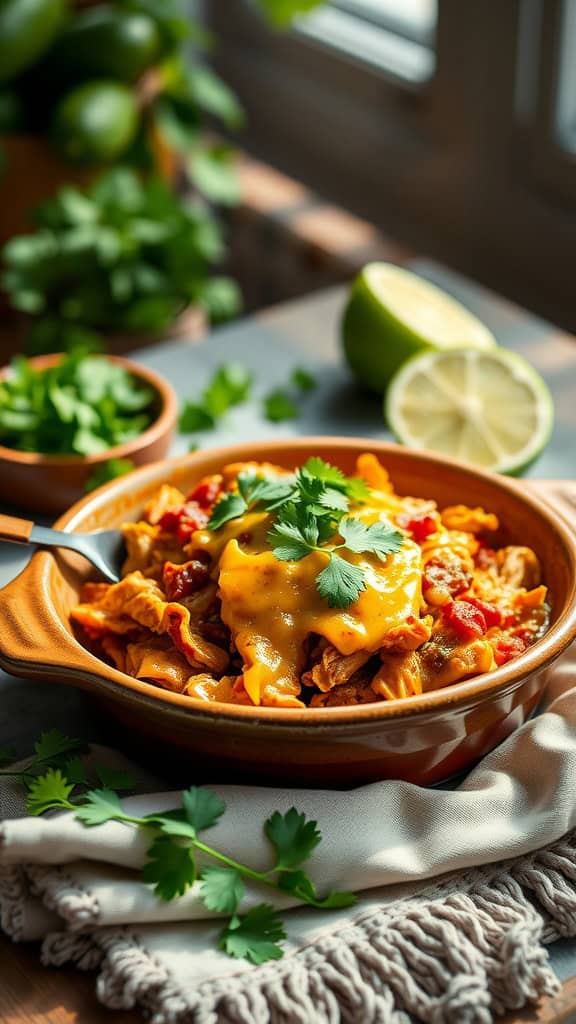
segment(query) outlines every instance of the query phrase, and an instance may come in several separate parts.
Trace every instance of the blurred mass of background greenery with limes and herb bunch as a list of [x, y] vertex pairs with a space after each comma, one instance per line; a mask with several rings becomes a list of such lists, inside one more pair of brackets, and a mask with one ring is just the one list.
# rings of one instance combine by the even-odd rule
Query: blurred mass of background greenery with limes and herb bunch
[[[234, 0], [241, 3], [243, 0]], [[319, 0], [255, 0], [281, 28]], [[31, 352], [241, 307], [218, 272], [239, 199], [234, 92], [187, 0], [0, 0], [4, 301]]]

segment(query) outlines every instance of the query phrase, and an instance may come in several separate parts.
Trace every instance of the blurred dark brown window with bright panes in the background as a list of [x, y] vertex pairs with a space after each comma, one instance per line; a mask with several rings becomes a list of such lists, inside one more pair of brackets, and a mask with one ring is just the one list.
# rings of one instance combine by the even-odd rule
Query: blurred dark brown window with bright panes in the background
[[211, 0], [246, 147], [576, 329], [576, 0]]

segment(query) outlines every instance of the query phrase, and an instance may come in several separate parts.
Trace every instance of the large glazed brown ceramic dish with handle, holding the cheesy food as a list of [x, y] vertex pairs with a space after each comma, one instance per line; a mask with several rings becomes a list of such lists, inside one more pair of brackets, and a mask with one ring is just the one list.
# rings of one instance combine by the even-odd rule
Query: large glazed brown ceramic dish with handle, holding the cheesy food
[[299, 438], [200, 452], [148, 466], [84, 499], [56, 524], [91, 530], [136, 519], [158, 486], [189, 487], [239, 459], [288, 468], [311, 454], [354, 470], [375, 452], [400, 494], [482, 505], [505, 540], [538, 554], [551, 625], [524, 654], [496, 671], [445, 689], [388, 702], [321, 709], [204, 703], [140, 682], [100, 662], [75, 638], [69, 620], [90, 569], [75, 556], [40, 552], [0, 592], [0, 665], [16, 675], [68, 682], [88, 691], [154, 750], [197, 759], [200, 777], [352, 785], [385, 777], [430, 784], [463, 771], [521, 725], [538, 702], [553, 659], [576, 636], [576, 542], [562, 518], [524, 483], [455, 461], [356, 438]]

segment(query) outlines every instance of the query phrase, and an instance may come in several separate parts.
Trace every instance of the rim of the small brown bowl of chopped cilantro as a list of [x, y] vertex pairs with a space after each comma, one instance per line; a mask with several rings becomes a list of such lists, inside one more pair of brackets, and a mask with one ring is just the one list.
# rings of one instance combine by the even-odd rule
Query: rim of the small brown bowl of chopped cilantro
[[[30, 359], [31, 365], [37, 370], [48, 369], [58, 362], [64, 352], [51, 352], [49, 355], [36, 355]], [[97, 358], [108, 359], [116, 366], [127, 370], [133, 377], [138, 377], [146, 381], [160, 397], [161, 409], [157, 418], [149, 427], [123, 444], [115, 444], [114, 447], [106, 449], [95, 455], [45, 455], [42, 452], [18, 452], [17, 449], [6, 447], [0, 444], [0, 460], [12, 462], [18, 465], [38, 466], [42, 465], [48, 469], [58, 469], [70, 466], [93, 466], [100, 462], [108, 462], [109, 459], [125, 459], [134, 452], [138, 452], [149, 444], [154, 444], [158, 438], [170, 431], [176, 422], [178, 414], [178, 401], [176, 393], [165, 377], [145, 367], [133, 359], [127, 359], [122, 355], [108, 355], [106, 352], [94, 352]], [[0, 381], [4, 380], [10, 373], [10, 366], [6, 365], [0, 369]]]

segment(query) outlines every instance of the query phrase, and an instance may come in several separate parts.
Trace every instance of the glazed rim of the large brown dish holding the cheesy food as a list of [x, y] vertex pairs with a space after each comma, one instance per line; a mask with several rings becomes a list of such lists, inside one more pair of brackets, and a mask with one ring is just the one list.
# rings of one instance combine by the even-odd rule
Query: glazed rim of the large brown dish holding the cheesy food
[[[114, 492], [117, 492], [118, 496], [126, 492], [126, 488], [137, 493], [138, 483], [143, 483], [151, 474], [154, 477], [160, 469], [163, 471], [162, 476], [170, 477], [177, 470], [186, 469], [188, 466], [194, 467], [195, 464], [199, 464], [201, 470], [202, 462], [225, 463], [238, 461], [241, 458], [245, 459], [249, 457], [251, 447], [255, 450], [259, 460], [270, 459], [270, 461], [274, 461], [275, 454], [278, 455], [283, 449], [301, 450], [303, 456], [304, 453], [310, 455], [315, 449], [323, 446], [348, 452], [352, 450], [357, 453], [374, 452], [384, 462], [386, 455], [393, 457], [402, 455], [404, 458], [414, 459], [416, 462], [431, 464], [439, 469], [446, 466], [461, 472], [465, 477], [480, 478], [488, 485], [503, 490], [510, 495], [516, 502], [523, 504], [531, 513], [536, 513], [540, 518], [543, 518], [550, 530], [560, 537], [572, 568], [572, 586], [568, 601], [557, 622], [524, 654], [490, 673], [484, 673], [474, 679], [455, 683], [443, 689], [430, 690], [417, 696], [351, 707], [323, 709], [249, 708], [219, 701], [208, 703], [173, 693], [154, 686], [152, 683], [126, 676], [112, 668], [86, 650], [68, 631], [66, 631], [66, 637], [70, 642], [63, 643], [65, 634], [63, 621], [51, 612], [48, 615], [48, 622], [44, 622], [46, 632], [43, 640], [45, 644], [51, 643], [52, 647], [56, 648], [56, 659], [54, 660], [52, 657], [44, 667], [44, 663], [40, 664], [29, 657], [28, 667], [31, 669], [34, 667], [37, 675], [52, 676], [54, 675], [53, 670], [59, 669], [63, 672], [63, 677], [77, 681], [82, 679], [84, 685], [86, 682], [90, 683], [90, 686], [85, 686], [85, 688], [96, 691], [98, 685], [104, 682], [108, 685], [100, 691], [102, 696], [110, 694], [112, 684], [114, 689], [119, 687], [124, 695], [128, 696], [129, 694], [135, 700], [143, 700], [146, 703], [150, 703], [152, 700], [159, 707], [160, 712], [162, 709], [165, 711], [171, 709], [173, 713], [188, 713], [191, 717], [196, 716], [204, 721], [212, 721], [214, 724], [223, 723], [225, 720], [229, 723], [243, 723], [245, 726], [252, 723], [286, 728], [297, 727], [298, 729], [308, 727], [318, 729], [319, 726], [324, 728], [339, 726], [347, 729], [362, 725], [378, 725], [378, 727], [385, 728], [386, 723], [392, 725], [398, 719], [425, 721], [430, 714], [438, 715], [439, 712], [456, 708], [471, 708], [497, 695], [510, 692], [520, 686], [529, 675], [541, 672], [546, 668], [576, 638], [576, 536], [556, 510], [549, 508], [537, 494], [528, 492], [526, 483], [523, 485], [509, 477], [496, 476], [456, 459], [441, 459], [434, 453], [424, 450], [404, 449], [401, 445], [374, 440], [374, 438], [315, 436], [269, 441], [243, 441], [234, 445], [200, 450], [195, 454], [150, 463], [126, 476], [105, 484], [77, 502], [65, 515], [60, 516], [55, 526], [58, 529], [74, 531], [78, 521], [84, 517], [87, 508], [97, 511], [98, 507], [106, 504], [108, 497]], [[40, 628], [39, 624], [42, 620], [46, 620], [46, 612], [49, 610], [44, 595], [49, 594], [50, 574], [54, 568], [53, 557], [47, 552], [39, 552], [33, 556], [16, 581], [12, 581], [12, 584], [8, 585], [11, 588], [12, 598], [19, 594], [23, 600], [28, 603], [28, 613], [36, 615], [38, 628]], [[26, 663], [26, 649], [23, 645], [23, 649], [16, 651], [15, 655], [7, 654], [5, 641], [2, 641], [0, 636], [0, 664], [3, 657], [6, 670], [13, 671], [14, 667], [22, 667], [22, 664]]]

